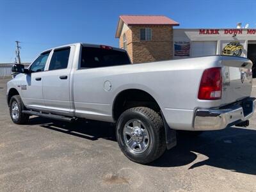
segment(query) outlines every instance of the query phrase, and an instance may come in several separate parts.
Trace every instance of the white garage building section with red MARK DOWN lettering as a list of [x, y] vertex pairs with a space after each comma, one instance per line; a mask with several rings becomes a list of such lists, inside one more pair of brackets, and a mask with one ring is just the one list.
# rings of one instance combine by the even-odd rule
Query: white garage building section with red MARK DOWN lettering
[[174, 59], [214, 54], [242, 56], [255, 64], [256, 29], [173, 29]]

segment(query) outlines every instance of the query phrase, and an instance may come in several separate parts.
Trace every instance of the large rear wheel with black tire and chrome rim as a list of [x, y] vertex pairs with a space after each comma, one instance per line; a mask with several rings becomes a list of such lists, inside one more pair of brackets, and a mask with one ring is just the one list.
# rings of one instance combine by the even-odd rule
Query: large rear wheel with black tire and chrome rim
[[163, 119], [150, 108], [127, 109], [118, 118], [116, 140], [131, 161], [150, 163], [166, 150]]

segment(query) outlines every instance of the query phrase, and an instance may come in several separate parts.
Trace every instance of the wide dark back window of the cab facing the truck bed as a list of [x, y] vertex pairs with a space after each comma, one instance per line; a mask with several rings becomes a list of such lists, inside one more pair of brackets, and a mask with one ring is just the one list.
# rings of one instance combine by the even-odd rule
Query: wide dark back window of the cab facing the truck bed
[[118, 51], [108, 46], [82, 47], [81, 67], [96, 68], [131, 64], [125, 51]]

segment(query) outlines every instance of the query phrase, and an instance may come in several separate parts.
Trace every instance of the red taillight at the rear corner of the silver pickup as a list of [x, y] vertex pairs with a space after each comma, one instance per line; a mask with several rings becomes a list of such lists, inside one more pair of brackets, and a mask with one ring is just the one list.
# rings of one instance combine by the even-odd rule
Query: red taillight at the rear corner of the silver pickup
[[215, 100], [221, 99], [222, 76], [221, 67], [208, 68], [204, 70], [201, 79], [198, 99]]

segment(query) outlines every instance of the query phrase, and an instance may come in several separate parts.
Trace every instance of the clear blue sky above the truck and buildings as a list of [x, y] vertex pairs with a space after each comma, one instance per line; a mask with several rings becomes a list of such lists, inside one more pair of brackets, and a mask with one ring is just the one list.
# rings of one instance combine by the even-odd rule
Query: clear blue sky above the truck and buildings
[[256, 0], [0, 0], [0, 63], [22, 62], [51, 47], [86, 42], [118, 47], [119, 15], [166, 15], [175, 28], [256, 28]]

